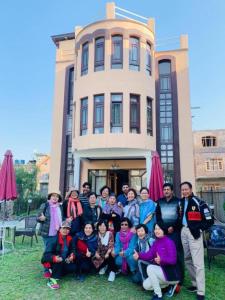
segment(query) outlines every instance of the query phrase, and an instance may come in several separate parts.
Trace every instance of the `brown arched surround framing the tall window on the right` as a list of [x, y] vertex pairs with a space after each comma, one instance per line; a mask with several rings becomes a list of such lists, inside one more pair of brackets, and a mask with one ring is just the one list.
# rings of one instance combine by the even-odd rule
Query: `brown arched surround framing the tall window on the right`
[[178, 118], [178, 95], [177, 95], [177, 72], [176, 72], [176, 58], [171, 55], [162, 55], [156, 58], [155, 66], [155, 87], [156, 87], [156, 148], [160, 154], [160, 82], [158, 64], [160, 61], [171, 61], [171, 90], [172, 90], [172, 116], [173, 116], [173, 151], [174, 151], [174, 192], [180, 194], [180, 146], [179, 146], [179, 118]]

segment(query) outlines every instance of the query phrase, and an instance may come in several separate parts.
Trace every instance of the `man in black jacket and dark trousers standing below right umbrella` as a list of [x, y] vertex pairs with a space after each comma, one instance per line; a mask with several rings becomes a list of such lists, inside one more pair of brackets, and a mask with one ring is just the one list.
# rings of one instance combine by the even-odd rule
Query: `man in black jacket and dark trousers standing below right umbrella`
[[173, 185], [165, 183], [163, 185], [164, 197], [157, 201], [156, 222], [167, 232], [167, 236], [174, 241], [177, 248], [177, 262], [181, 272], [180, 284], [184, 281], [184, 253], [181, 243], [181, 219], [180, 200], [173, 194]]

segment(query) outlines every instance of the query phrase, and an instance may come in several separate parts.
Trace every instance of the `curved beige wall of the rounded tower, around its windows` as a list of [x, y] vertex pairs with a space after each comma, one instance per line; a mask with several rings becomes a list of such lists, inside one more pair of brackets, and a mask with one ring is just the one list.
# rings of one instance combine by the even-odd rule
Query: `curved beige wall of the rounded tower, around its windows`
[[[111, 69], [111, 35], [118, 32], [118, 28], [124, 30], [123, 34], [123, 69]], [[93, 34], [98, 29], [108, 30], [105, 38], [105, 68], [104, 71], [94, 72], [94, 40], [89, 43], [89, 66], [88, 74], [81, 76], [81, 52], [82, 45], [78, 48], [77, 72], [75, 80], [76, 116], [74, 119], [73, 145], [75, 150], [86, 150], [90, 148], [140, 148], [155, 149], [155, 126], [153, 126], [153, 137], [147, 135], [146, 98], [153, 99], [153, 124], [155, 124], [155, 79], [154, 73], [150, 77], [145, 71], [146, 41], [151, 41], [154, 46], [154, 35], [152, 31], [137, 22], [125, 20], [106, 20], [88, 25], [79, 30], [76, 44], [85, 35]], [[140, 37], [140, 72], [129, 70], [129, 36]], [[85, 41], [85, 40], [84, 40]], [[154, 51], [153, 51], [154, 55]], [[152, 69], [154, 70], [154, 60]], [[93, 95], [104, 93], [104, 134], [93, 134]], [[110, 94], [123, 93], [123, 133], [110, 133]], [[129, 132], [130, 118], [130, 93], [139, 94], [141, 110], [141, 133], [131, 134]], [[88, 97], [88, 133], [80, 136], [80, 99]]]

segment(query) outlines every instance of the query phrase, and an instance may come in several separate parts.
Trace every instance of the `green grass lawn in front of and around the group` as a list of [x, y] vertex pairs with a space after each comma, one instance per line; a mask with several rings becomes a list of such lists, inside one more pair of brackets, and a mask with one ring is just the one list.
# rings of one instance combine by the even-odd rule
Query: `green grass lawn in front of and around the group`
[[[1, 300], [149, 300], [151, 292], [144, 291], [129, 281], [129, 278], [118, 276], [113, 283], [107, 282], [107, 276], [92, 275], [85, 282], [80, 283], [67, 276], [61, 280], [61, 288], [57, 291], [46, 286], [46, 279], [42, 277], [40, 257], [42, 254], [42, 241], [34, 242], [30, 247], [30, 239], [25, 238], [24, 245], [17, 238], [16, 249], [0, 257], [0, 299]], [[225, 257], [217, 256], [212, 262], [211, 270], [206, 266], [206, 299], [225, 299]], [[185, 286], [190, 285], [188, 276]], [[169, 299], [169, 298], [168, 298]], [[196, 299], [185, 288], [175, 300]]]

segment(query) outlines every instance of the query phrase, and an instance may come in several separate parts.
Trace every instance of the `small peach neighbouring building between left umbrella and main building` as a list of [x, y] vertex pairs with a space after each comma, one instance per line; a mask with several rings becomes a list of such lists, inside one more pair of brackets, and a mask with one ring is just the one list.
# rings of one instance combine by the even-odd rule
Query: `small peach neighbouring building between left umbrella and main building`
[[42, 196], [48, 195], [50, 156], [48, 154], [36, 153], [37, 166], [37, 191]]

